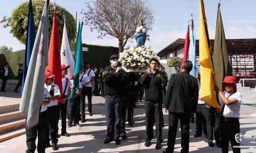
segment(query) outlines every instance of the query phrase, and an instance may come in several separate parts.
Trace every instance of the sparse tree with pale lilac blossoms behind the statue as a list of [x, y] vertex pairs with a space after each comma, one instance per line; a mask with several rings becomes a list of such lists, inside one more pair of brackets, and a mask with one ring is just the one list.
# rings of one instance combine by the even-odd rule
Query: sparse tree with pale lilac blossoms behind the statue
[[154, 23], [153, 11], [143, 0], [95, 0], [86, 3], [86, 11], [82, 13], [90, 30], [98, 31], [98, 38], [111, 35], [118, 39], [119, 53], [128, 39], [133, 38], [139, 20], [143, 20], [147, 30], [152, 30]]

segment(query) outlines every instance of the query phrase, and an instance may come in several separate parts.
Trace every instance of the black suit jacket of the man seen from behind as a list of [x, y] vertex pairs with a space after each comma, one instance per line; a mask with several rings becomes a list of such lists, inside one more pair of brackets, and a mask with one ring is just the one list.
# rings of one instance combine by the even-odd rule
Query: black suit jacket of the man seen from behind
[[194, 112], [197, 110], [197, 79], [184, 71], [170, 76], [163, 107], [169, 112]]

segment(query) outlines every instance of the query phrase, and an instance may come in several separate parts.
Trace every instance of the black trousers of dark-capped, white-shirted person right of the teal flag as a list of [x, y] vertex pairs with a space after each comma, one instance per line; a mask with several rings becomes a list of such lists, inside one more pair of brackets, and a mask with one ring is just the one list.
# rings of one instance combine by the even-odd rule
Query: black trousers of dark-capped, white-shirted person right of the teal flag
[[81, 112], [81, 118], [84, 119], [86, 118], [86, 95], [87, 95], [87, 100], [88, 100], [88, 112], [92, 112], [91, 108], [91, 87], [83, 86], [83, 92], [82, 92], [82, 104], [80, 105], [80, 112]]

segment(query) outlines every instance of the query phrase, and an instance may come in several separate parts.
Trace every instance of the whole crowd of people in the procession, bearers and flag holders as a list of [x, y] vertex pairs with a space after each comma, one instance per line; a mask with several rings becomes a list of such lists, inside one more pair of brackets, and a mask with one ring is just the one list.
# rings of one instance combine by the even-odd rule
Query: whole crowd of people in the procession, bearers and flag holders
[[[195, 78], [189, 74], [193, 64], [184, 61], [182, 72], [172, 74], [168, 83], [168, 75], [163, 65], [155, 58], [150, 60], [150, 68], [146, 72], [125, 72], [122, 64], [118, 62], [118, 56], [113, 54], [109, 58], [109, 66], [105, 68], [91, 68], [90, 61], [86, 61], [80, 71], [79, 88], [73, 85], [73, 75], [69, 79], [65, 77], [69, 65], [61, 65], [62, 91], [54, 83], [54, 74], [45, 74], [44, 101], [40, 107], [39, 122], [33, 128], [26, 128], [27, 151], [34, 152], [35, 140], [38, 133], [38, 152], [45, 152], [45, 148], [52, 146], [52, 150], [58, 150], [58, 122], [61, 113], [61, 135], [69, 137], [66, 127], [81, 127], [80, 122], [86, 122], [86, 103], [88, 99], [88, 112], [93, 115], [92, 96], [105, 98], [106, 139], [104, 144], [115, 141], [119, 145], [120, 138], [126, 136], [126, 116], [129, 126], [133, 126], [133, 109], [137, 101], [144, 99], [146, 134], [145, 147], [150, 147], [154, 139], [153, 126], [156, 126], [157, 143], [155, 149], [162, 148], [162, 128], [164, 126], [163, 114], [169, 113], [168, 121], [168, 147], [163, 152], [173, 152], [177, 133], [177, 123], [180, 120], [182, 132], [182, 150], [189, 152], [190, 122], [195, 116], [196, 133], [194, 137], [200, 137], [202, 133], [207, 137], [209, 147], [216, 145], [222, 148], [222, 152], [228, 152], [229, 141], [233, 152], [240, 152], [235, 140], [235, 134], [240, 133], [240, 103], [241, 93], [237, 92], [236, 79], [227, 76], [223, 80], [222, 89], [215, 87], [218, 93], [221, 110], [205, 103], [200, 96], [200, 74]], [[7, 71], [7, 72], [6, 72]], [[19, 75], [22, 71], [20, 64]], [[8, 76], [8, 64], [5, 67], [5, 76]], [[3, 83], [5, 85], [5, 83]], [[3, 86], [2, 85], [2, 86]], [[17, 83], [15, 92], [20, 86]], [[2, 90], [2, 89], [1, 89]], [[4, 90], [4, 88], [3, 88]], [[76, 94], [69, 99], [71, 90]], [[62, 101], [57, 99], [61, 96]], [[71, 102], [73, 101], [73, 102]], [[70, 104], [72, 103], [72, 104]], [[126, 115], [127, 114], [127, 115]], [[67, 121], [66, 121], [67, 116]], [[47, 133], [47, 134], [45, 134]], [[52, 145], [50, 144], [50, 141]]]

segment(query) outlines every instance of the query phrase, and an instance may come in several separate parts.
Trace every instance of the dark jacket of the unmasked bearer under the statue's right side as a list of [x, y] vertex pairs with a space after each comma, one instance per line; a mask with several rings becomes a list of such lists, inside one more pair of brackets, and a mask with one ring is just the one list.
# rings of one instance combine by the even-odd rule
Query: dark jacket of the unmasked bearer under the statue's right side
[[162, 103], [162, 82], [163, 77], [158, 70], [154, 74], [145, 73], [140, 78], [140, 84], [145, 89], [145, 100]]

